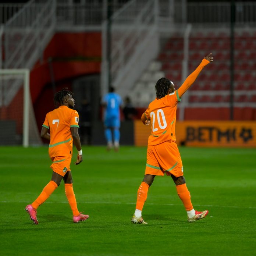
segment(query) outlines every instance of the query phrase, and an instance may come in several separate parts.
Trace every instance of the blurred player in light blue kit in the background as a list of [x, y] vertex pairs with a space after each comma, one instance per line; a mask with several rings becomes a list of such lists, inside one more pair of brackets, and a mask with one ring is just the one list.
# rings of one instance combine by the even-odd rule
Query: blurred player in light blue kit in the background
[[102, 100], [104, 107], [105, 137], [107, 140], [107, 150], [113, 147], [114, 141], [114, 149], [118, 151], [120, 141], [120, 107], [123, 102], [121, 96], [114, 92], [115, 89], [113, 87], [110, 87], [109, 91], [110, 92], [107, 93]]

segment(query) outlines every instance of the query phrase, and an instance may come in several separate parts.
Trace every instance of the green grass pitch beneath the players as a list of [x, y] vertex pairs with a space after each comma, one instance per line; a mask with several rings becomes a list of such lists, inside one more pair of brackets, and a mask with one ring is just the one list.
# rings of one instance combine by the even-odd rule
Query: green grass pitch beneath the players
[[[256, 255], [256, 149], [180, 147], [196, 210], [188, 223], [170, 177], [156, 177], [143, 218], [131, 223], [146, 164], [146, 147], [83, 147], [71, 166], [78, 210], [72, 223], [64, 184], [38, 208], [39, 224], [24, 211], [50, 181], [47, 147], [0, 147], [1, 255]], [[75, 161], [73, 156], [72, 162]]]

